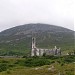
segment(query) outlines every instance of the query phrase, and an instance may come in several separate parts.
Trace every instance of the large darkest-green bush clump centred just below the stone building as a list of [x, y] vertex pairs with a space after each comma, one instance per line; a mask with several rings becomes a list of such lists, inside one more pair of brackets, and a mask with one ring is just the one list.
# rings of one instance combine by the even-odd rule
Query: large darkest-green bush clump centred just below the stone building
[[35, 67], [35, 66], [43, 66], [43, 65], [49, 65], [50, 61], [48, 61], [47, 59], [26, 59], [24, 62], [25, 66], [28, 67]]

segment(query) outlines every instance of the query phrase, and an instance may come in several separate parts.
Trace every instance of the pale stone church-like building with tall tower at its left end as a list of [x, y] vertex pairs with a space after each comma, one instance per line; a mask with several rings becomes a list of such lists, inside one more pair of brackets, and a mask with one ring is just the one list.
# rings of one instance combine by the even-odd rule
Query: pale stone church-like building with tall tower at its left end
[[42, 48], [37, 48], [36, 47], [36, 38], [32, 37], [32, 51], [31, 51], [31, 56], [43, 56], [43, 54], [46, 55], [61, 55], [61, 50], [60, 48], [55, 48], [53, 49], [42, 49]]

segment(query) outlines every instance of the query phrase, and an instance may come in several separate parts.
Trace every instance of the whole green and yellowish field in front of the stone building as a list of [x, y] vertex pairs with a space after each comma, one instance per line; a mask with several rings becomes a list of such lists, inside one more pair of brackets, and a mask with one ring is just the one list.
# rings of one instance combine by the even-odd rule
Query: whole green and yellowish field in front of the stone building
[[75, 75], [75, 55], [0, 58], [0, 75]]

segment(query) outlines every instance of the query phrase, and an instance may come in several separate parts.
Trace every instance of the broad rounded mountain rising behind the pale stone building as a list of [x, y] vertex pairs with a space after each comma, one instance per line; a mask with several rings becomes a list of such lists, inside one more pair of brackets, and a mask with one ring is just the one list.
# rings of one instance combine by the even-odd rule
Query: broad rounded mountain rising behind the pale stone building
[[62, 51], [72, 51], [74, 31], [48, 24], [26, 24], [0, 33], [0, 55], [25, 55], [31, 51], [31, 38], [36, 37], [39, 48], [60, 47]]

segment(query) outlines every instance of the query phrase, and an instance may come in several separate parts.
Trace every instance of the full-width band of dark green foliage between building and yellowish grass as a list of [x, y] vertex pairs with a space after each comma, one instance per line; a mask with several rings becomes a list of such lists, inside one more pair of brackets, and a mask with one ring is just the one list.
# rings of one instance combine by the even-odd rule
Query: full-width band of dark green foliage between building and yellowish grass
[[[13, 60], [14, 59], [14, 60]], [[65, 64], [70, 64], [75, 62], [75, 55], [69, 55], [69, 56], [45, 56], [45, 57], [26, 57], [26, 58], [13, 58], [13, 59], [7, 59], [1, 58], [0, 59], [0, 72], [8, 71], [8, 69], [13, 69], [17, 66], [22, 67], [38, 67], [38, 66], [44, 66], [44, 65], [52, 65], [52, 64], [59, 64], [61, 67], [65, 66]], [[73, 69], [72, 69], [73, 71]]]

